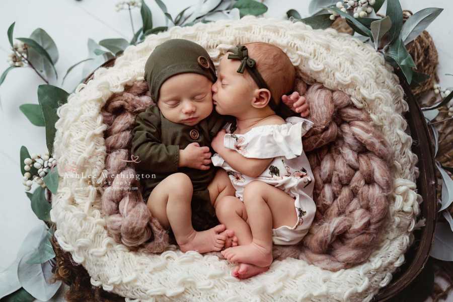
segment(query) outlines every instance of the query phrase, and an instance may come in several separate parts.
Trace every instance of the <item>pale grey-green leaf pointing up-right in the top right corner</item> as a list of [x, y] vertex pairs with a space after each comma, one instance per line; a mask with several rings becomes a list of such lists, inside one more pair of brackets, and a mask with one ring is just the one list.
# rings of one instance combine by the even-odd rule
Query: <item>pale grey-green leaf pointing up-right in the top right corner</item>
[[404, 44], [407, 45], [417, 38], [442, 11], [443, 9], [427, 8], [409, 17], [404, 23], [400, 33], [400, 38], [404, 41]]

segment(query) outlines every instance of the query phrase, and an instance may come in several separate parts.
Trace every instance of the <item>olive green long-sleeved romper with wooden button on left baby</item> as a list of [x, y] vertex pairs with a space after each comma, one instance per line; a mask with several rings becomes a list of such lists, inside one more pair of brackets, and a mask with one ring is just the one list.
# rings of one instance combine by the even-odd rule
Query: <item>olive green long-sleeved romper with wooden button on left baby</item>
[[166, 119], [156, 105], [149, 106], [138, 114], [132, 131], [131, 154], [138, 156], [137, 172], [149, 174], [149, 178], [146, 176], [140, 179], [145, 202], [162, 180], [171, 174], [181, 172], [189, 176], [193, 185], [194, 229], [203, 231], [218, 224], [207, 190], [217, 168], [212, 164], [209, 170], [178, 167], [179, 150], [184, 149], [189, 143], [198, 142], [200, 146], [208, 146], [211, 154], [214, 154], [211, 148], [212, 138], [229, 120], [229, 116], [221, 116], [213, 110], [207, 118], [196, 125], [177, 124]]

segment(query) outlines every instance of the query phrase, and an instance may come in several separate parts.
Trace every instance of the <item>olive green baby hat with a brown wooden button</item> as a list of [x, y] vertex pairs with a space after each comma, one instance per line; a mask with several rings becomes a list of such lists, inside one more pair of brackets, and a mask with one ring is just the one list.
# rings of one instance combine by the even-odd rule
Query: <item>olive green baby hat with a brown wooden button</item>
[[172, 75], [193, 72], [204, 75], [212, 83], [217, 80], [214, 63], [207, 51], [195, 42], [171, 39], [157, 46], [149, 55], [144, 68], [153, 100], [159, 100], [159, 90]]

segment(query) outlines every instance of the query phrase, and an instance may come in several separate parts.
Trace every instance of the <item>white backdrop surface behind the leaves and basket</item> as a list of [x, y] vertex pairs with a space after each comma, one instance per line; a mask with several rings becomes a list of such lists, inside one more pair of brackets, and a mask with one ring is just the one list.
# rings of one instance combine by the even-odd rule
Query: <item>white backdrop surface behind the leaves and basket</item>
[[[153, 13], [154, 26], [165, 26], [161, 10], [152, 0], [145, 0]], [[168, 11], [176, 16], [197, 0], [164, 0]], [[127, 11], [115, 11], [116, 1], [112, 0], [2, 0], [0, 2], [0, 73], [7, 67], [10, 45], [7, 29], [16, 22], [14, 36], [29, 37], [36, 28], [44, 29], [55, 41], [59, 59], [56, 69], [57, 81], [49, 84], [61, 87], [66, 70], [74, 63], [88, 57], [87, 42], [107, 38], [130, 40], [132, 29]], [[297, 10], [302, 17], [308, 16], [309, 0], [266, 0], [269, 8], [265, 17], [284, 18], [289, 9]], [[444, 11], [429, 26], [439, 52], [438, 73], [442, 87], [453, 86], [453, 2], [449, 0], [401, 0], [403, 9], [417, 12], [426, 7], [443, 8]], [[132, 11], [134, 28], [141, 26], [138, 9]], [[71, 92], [82, 79], [82, 66], [76, 67], [67, 77], [62, 88]], [[37, 88], [45, 84], [31, 68], [15, 68], [0, 86], [0, 271], [15, 258], [28, 232], [42, 223], [31, 210], [30, 201], [24, 193], [20, 174], [19, 150], [27, 146], [30, 153], [44, 153], [46, 150], [44, 127], [32, 125], [19, 110], [25, 103], [37, 104]]]

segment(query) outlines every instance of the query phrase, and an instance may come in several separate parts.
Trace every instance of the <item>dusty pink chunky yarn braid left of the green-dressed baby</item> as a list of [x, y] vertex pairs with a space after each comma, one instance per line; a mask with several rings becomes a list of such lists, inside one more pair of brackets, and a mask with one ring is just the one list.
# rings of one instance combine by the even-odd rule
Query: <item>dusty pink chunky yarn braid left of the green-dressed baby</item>
[[108, 155], [105, 168], [108, 186], [102, 194], [102, 213], [107, 216], [107, 231], [116, 242], [131, 250], [143, 248], [160, 253], [169, 245], [169, 236], [156, 218], [153, 218], [135, 178], [135, 169], [129, 160], [130, 141], [135, 116], [152, 104], [146, 82], [135, 82], [125, 92], [114, 94], [102, 110]]

